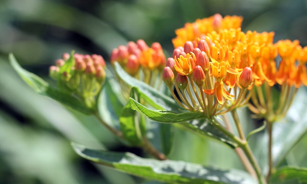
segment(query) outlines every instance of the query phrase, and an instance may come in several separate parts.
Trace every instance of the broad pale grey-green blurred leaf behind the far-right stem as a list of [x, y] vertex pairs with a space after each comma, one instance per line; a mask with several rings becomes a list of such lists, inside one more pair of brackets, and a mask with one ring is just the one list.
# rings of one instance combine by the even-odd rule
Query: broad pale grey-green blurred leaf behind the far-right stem
[[[307, 93], [305, 89], [298, 90], [286, 117], [273, 125], [272, 157], [274, 166], [277, 167], [285, 159], [288, 152], [307, 132]], [[267, 171], [267, 132], [257, 144], [255, 156], [260, 167]]]

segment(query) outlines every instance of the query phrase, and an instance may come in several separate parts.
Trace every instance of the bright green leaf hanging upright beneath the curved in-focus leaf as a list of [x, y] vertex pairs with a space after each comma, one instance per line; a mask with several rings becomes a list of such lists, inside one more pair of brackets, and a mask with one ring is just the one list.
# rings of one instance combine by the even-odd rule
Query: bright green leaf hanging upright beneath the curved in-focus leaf
[[[130, 96], [139, 99], [137, 88], [132, 88]], [[130, 108], [129, 102], [122, 109], [122, 114], [119, 117], [120, 129], [123, 136], [133, 145], [141, 145], [143, 136], [146, 133], [145, 119], [137, 111]]]

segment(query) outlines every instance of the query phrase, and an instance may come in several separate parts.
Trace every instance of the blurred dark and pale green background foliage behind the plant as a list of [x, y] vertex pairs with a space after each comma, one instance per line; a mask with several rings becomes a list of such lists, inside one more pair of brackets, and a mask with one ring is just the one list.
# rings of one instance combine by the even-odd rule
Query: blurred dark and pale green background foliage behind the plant
[[[123, 146], [95, 118], [73, 110], [68, 112], [59, 103], [33, 92], [8, 64], [9, 52], [14, 53], [25, 69], [51, 81], [49, 66], [64, 52], [96, 53], [108, 61], [113, 48], [129, 40], [143, 39], [149, 45], [160, 42], [165, 51], [172, 54], [171, 39], [175, 37], [175, 29], [183, 27], [185, 22], [215, 13], [243, 16], [243, 31], [274, 31], [275, 41], [298, 39], [305, 46], [306, 2], [1, 0], [0, 183], [143, 182], [79, 158], [72, 151], [71, 141], [91, 148], [131, 151], [146, 156], [138, 148]], [[242, 168], [238, 159], [216, 159], [212, 150], [236, 158], [224, 145], [183, 131], [177, 131], [175, 136], [176, 150], [170, 155], [171, 159]], [[304, 137], [295, 149], [306, 149], [306, 142]], [[191, 156], [187, 150], [201, 157]], [[293, 154], [289, 158], [293, 164], [307, 166], [306, 161], [302, 161], [304, 156]]]

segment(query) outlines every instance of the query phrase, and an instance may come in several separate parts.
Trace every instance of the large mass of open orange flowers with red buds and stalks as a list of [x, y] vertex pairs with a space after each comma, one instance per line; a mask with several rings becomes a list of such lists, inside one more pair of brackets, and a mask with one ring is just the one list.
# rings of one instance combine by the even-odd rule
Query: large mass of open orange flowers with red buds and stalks
[[[247, 104], [259, 117], [275, 121], [286, 113], [297, 88], [307, 85], [307, 47], [302, 48], [297, 40], [273, 44], [274, 32], [243, 33], [241, 21], [216, 14], [202, 19], [207, 26], [204, 32], [195, 31], [201, 26], [199, 20], [191, 23], [193, 32], [187, 25], [180, 34], [177, 30], [173, 58], [167, 59], [163, 80], [171, 92], [175, 86], [179, 98], [173, 96], [185, 109], [213, 116]], [[275, 84], [281, 86], [277, 109], [272, 98]]]

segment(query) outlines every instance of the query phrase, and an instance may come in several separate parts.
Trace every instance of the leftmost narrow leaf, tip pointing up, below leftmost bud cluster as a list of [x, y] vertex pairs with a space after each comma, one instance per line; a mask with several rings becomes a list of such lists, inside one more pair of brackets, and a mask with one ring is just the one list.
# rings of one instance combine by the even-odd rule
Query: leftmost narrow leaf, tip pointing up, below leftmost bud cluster
[[93, 109], [89, 109], [83, 102], [80, 102], [79, 99], [71, 96], [70, 94], [63, 93], [60, 90], [52, 88], [49, 86], [48, 82], [44, 81], [37, 75], [26, 71], [23, 69], [16, 61], [14, 55], [10, 53], [9, 55], [10, 64], [18, 75], [30, 86], [32, 89], [43, 96], [48, 96], [64, 105], [68, 105], [73, 109], [76, 109], [84, 114], [93, 113]]

